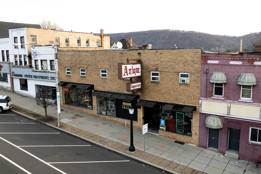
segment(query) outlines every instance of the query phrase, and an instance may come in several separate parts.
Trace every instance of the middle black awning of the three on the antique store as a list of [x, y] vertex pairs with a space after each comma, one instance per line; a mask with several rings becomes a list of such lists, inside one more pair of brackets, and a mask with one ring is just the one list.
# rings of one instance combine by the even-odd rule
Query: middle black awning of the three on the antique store
[[106, 91], [94, 91], [91, 94], [91, 96], [107, 97], [107, 98], [122, 99], [122, 100], [129, 100], [129, 101], [140, 98], [138, 95], [118, 94], [118, 93], [106, 92]]

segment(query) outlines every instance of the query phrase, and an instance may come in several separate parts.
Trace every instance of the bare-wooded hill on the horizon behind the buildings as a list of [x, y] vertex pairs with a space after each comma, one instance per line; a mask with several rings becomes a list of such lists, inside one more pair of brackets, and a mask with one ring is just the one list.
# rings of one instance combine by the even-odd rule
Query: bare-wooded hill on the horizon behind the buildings
[[[107, 35], [107, 34], [106, 34]], [[242, 51], [247, 49], [247, 39], [252, 35], [220, 36], [196, 31], [184, 30], [148, 30], [129, 33], [111, 33], [111, 43], [125, 38], [132, 38], [132, 43], [138, 47], [152, 44], [152, 48], [203, 48], [204, 51], [223, 52], [239, 51], [240, 40], [243, 39]]]

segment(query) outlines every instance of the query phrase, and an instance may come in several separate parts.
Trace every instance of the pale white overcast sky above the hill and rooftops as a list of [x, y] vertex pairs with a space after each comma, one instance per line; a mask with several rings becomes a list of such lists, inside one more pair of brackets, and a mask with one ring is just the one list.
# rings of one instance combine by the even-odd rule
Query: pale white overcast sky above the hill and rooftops
[[0, 21], [45, 19], [83, 33], [174, 29], [242, 36], [261, 31], [260, 5], [260, 0], [12, 0], [1, 2]]

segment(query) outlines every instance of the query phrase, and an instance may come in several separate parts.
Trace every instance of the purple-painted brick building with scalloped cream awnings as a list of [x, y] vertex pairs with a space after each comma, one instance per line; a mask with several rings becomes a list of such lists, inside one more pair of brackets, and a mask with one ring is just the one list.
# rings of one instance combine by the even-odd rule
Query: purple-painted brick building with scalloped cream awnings
[[203, 53], [199, 147], [255, 162], [261, 153], [261, 54]]

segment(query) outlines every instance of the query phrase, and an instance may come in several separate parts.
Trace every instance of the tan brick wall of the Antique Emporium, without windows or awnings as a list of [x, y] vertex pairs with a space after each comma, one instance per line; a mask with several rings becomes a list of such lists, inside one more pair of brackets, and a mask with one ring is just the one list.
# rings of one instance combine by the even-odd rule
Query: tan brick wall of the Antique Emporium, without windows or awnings
[[[126, 94], [132, 94], [126, 91], [126, 83], [130, 80], [118, 79], [117, 64], [126, 63], [127, 58], [141, 59], [140, 99], [197, 107], [193, 111], [192, 136], [168, 131], [159, 131], [159, 135], [198, 145], [201, 49], [58, 51], [58, 56], [59, 81], [93, 84], [95, 91]], [[71, 75], [66, 75], [66, 67], [71, 68]], [[86, 76], [80, 76], [80, 68], [86, 69]], [[107, 78], [100, 77], [100, 69], [107, 70]], [[151, 81], [151, 71], [159, 72], [159, 82]], [[179, 72], [189, 73], [189, 84], [179, 83]], [[60, 87], [60, 96], [61, 91]], [[62, 101], [61, 98], [61, 105], [64, 107], [122, 125], [127, 121], [127, 125], [130, 125], [129, 120], [97, 114], [96, 96], [93, 96], [93, 110], [62, 104]], [[142, 129], [143, 116], [144, 107], [141, 107], [138, 109], [138, 121], [133, 123], [134, 128]]]

